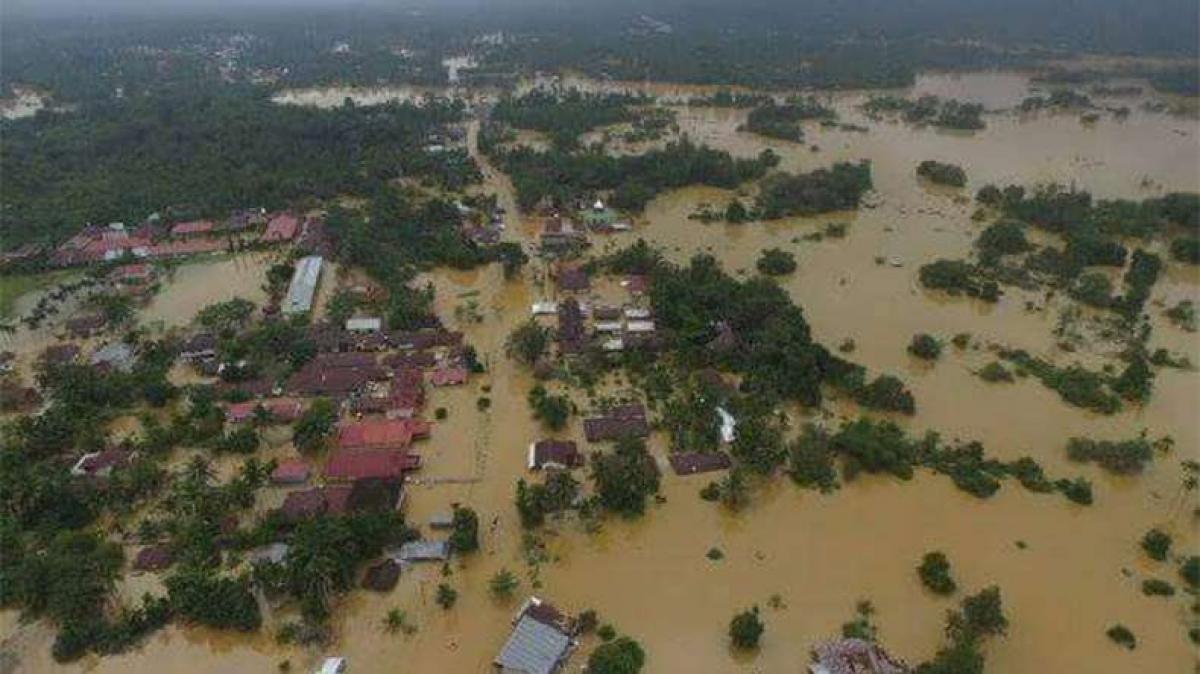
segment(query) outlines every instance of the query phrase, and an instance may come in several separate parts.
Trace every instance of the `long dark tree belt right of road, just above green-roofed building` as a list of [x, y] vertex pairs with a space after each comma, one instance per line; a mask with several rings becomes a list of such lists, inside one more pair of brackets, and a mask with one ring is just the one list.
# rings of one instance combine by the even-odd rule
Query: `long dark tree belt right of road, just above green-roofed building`
[[779, 163], [769, 150], [752, 160], [696, 145], [686, 137], [641, 155], [612, 156], [601, 146], [578, 151], [508, 148], [496, 127], [480, 133], [480, 149], [512, 179], [522, 210], [548, 199], [566, 206], [584, 193], [611, 191], [612, 206], [640, 211], [656, 194], [686, 185], [734, 188]]

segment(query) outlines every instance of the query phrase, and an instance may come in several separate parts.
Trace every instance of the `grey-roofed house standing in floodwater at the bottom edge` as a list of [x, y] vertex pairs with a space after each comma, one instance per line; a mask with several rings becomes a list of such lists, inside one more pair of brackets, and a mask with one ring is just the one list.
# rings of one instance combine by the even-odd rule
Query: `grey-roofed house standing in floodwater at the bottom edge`
[[492, 664], [499, 674], [556, 674], [577, 645], [574, 637], [572, 620], [538, 597], [529, 597]]

